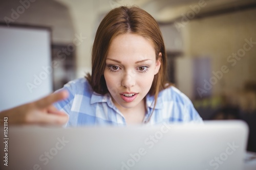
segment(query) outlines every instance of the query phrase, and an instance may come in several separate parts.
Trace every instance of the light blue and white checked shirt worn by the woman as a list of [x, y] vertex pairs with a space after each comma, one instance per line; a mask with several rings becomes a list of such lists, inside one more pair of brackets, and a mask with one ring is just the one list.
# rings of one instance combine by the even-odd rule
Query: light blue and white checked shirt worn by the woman
[[[71, 81], [62, 89], [69, 91], [69, 98], [55, 103], [54, 106], [69, 115], [67, 127], [126, 125], [124, 116], [113, 104], [110, 94], [94, 92], [85, 78]], [[155, 111], [152, 113], [153, 102], [154, 96], [147, 94], [147, 110], [143, 121], [146, 125], [202, 123], [202, 118], [191, 101], [173, 86], [159, 93]]]

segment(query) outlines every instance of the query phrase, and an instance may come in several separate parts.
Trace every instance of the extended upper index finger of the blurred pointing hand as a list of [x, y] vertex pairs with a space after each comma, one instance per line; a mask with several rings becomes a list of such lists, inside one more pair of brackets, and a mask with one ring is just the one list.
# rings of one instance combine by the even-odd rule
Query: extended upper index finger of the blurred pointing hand
[[42, 98], [35, 102], [39, 109], [44, 109], [53, 103], [68, 98], [69, 92], [67, 90], [62, 90], [57, 93], [52, 93], [45, 98]]

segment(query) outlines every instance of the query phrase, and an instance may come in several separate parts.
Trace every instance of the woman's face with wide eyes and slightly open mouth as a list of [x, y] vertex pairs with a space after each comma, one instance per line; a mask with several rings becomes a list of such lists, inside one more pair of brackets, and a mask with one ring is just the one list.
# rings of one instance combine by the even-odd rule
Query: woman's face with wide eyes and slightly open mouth
[[159, 71], [160, 58], [156, 61], [153, 44], [140, 35], [126, 33], [113, 39], [104, 78], [117, 108], [134, 108], [143, 102]]

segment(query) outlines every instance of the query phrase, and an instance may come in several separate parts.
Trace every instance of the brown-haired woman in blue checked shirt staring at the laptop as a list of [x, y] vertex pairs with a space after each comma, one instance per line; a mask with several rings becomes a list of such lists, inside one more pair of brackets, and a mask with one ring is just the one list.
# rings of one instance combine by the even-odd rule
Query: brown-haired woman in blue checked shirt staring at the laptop
[[119, 7], [103, 18], [92, 75], [63, 89], [69, 98], [55, 106], [69, 114], [68, 126], [202, 122], [189, 99], [167, 83], [158, 24], [137, 7]]

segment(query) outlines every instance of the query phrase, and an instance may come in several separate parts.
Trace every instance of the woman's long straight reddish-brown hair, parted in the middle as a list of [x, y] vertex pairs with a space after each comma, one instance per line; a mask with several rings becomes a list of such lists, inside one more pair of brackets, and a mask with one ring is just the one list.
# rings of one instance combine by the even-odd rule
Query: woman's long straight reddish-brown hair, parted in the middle
[[150, 95], [155, 95], [155, 108], [158, 93], [167, 87], [165, 46], [156, 20], [138, 7], [115, 8], [100, 22], [92, 49], [92, 76], [87, 74], [86, 78], [95, 92], [99, 94], [109, 92], [103, 75], [106, 55], [112, 40], [125, 33], [141, 35], [150, 40], [155, 48], [156, 61], [160, 57], [159, 53], [162, 53], [159, 72], [155, 75], [148, 92]]

